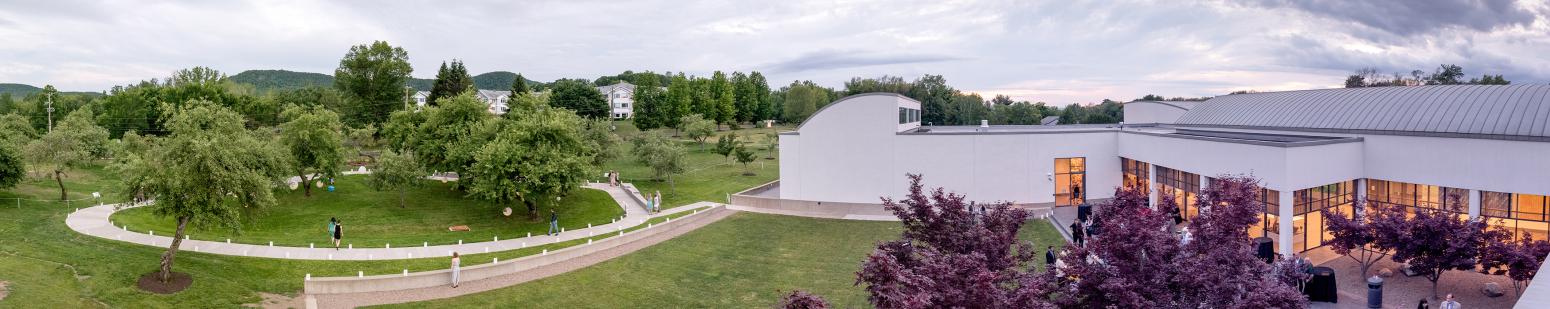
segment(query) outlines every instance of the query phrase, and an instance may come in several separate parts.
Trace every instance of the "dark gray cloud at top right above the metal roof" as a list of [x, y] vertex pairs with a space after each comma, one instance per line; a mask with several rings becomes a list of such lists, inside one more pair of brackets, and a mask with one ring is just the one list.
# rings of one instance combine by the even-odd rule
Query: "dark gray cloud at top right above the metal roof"
[[1348, 20], [1401, 37], [1446, 28], [1491, 31], [1538, 19], [1538, 12], [1516, 0], [1260, 0], [1256, 5]]

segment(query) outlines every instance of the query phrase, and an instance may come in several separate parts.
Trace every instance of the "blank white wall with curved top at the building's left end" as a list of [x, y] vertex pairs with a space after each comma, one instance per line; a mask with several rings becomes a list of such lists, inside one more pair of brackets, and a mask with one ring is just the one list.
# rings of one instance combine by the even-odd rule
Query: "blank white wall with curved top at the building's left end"
[[[871, 95], [831, 104], [797, 135], [781, 135], [781, 199], [877, 203], [902, 197], [905, 174], [925, 175], [976, 202], [1054, 202], [1054, 160], [1083, 157], [1087, 196], [1105, 199], [1119, 186], [1114, 132], [899, 134], [902, 96]], [[890, 126], [891, 124], [891, 126]]]

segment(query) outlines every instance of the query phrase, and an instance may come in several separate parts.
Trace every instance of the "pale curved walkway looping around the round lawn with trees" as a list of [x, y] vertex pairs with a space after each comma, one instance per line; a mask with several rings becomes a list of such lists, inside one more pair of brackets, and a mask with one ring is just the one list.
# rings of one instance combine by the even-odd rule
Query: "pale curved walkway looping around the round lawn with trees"
[[[659, 214], [646, 214], [645, 208], [637, 202], [639, 197], [631, 197], [625, 186], [609, 186], [604, 183], [587, 183], [586, 188], [606, 191], [614, 197], [614, 202], [620, 208], [625, 208], [625, 219], [614, 224], [595, 225], [591, 228], [567, 230], [560, 233], [560, 236], [532, 236], [519, 238], [513, 234], [512, 239], [487, 241], [487, 242], [470, 242], [457, 245], [422, 245], [422, 247], [395, 247], [395, 248], [305, 248], [305, 247], [276, 247], [262, 244], [229, 244], [215, 241], [183, 241], [178, 247], [180, 250], [212, 253], [212, 255], [231, 255], [231, 256], [256, 256], [256, 258], [277, 258], [277, 259], [332, 259], [332, 261], [367, 261], [367, 259], [411, 259], [411, 258], [434, 258], [434, 256], [451, 256], [453, 252], [462, 253], [485, 253], [485, 252], [505, 252], [516, 250], [530, 245], [542, 245], [552, 242], [564, 242], [572, 239], [581, 239], [592, 234], [617, 233], [623, 228], [629, 228], [639, 224], [645, 224], [646, 219], [656, 216], [668, 216], [674, 213], [690, 211], [694, 207], [677, 207], [663, 210]], [[76, 233], [90, 234], [104, 239], [124, 241], [141, 245], [152, 247], [167, 247], [172, 238], [146, 234], [124, 230], [122, 227], [115, 227], [108, 220], [119, 205], [99, 205], [90, 208], [79, 208], [65, 217], [65, 225]]]

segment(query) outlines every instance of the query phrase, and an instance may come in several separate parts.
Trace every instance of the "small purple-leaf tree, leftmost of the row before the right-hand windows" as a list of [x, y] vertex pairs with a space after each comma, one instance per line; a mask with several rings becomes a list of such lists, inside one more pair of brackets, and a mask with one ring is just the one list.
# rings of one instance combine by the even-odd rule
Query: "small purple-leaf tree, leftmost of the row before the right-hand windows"
[[[1335, 253], [1344, 255], [1361, 266], [1361, 276], [1367, 278], [1369, 269], [1383, 258], [1389, 256], [1389, 250], [1393, 248], [1393, 236], [1397, 234], [1393, 219], [1404, 219], [1403, 208], [1384, 207], [1381, 203], [1366, 203], [1358, 200], [1353, 207], [1355, 217], [1341, 213], [1336, 208], [1325, 208], [1324, 213], [1324, 230], [1333, 236], [1333, 239], [1324, 244], [1330, 247]], [[1398, 217], [1395, 217], [1398, 216]]]

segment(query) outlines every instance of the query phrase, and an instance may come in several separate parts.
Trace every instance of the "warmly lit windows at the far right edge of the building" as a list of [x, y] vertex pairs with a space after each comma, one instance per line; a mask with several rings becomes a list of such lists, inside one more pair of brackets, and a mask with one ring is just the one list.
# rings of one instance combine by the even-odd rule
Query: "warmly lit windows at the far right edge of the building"
[[1513, 239], [1524, 233], [1533, 239], [1550, 238], [1550, 197], [1534, 194], [1480, 191], [1480, 214], [1491, 225], [1504, 227]]

